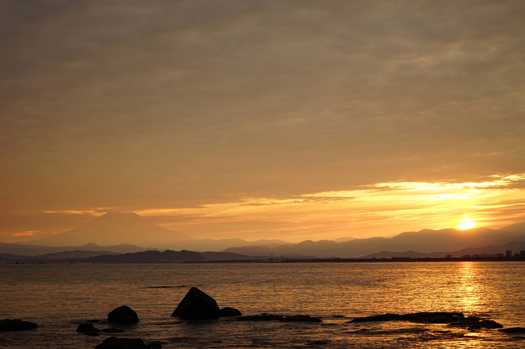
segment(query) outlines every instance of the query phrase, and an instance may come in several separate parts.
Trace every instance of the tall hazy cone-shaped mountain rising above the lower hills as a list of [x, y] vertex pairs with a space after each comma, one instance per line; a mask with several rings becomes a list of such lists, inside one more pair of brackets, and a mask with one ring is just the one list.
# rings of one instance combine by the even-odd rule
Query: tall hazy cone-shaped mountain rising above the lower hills
[[122, 243], [164, 247], [170, 243], [191, 240], [191, 236], [156, 225], [134, 212], [108, 212], [91, 222], [65, 233], [21, 242], [49, 246], [118, 245]]

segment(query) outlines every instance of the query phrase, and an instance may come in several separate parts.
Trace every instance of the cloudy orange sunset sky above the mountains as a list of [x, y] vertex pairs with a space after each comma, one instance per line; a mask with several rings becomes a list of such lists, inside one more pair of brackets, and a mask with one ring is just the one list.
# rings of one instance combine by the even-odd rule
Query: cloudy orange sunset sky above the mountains
[[5, 0], [0, 241], [525, 221], [522, 0]]

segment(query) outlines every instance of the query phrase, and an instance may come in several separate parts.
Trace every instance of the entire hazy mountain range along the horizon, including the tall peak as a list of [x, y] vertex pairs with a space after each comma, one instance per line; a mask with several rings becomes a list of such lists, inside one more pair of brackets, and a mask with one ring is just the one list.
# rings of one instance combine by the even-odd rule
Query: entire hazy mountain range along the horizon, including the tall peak
[[[290, 243], [278, 239], [195, 239], [181, 232], [156, 225], [133, 212], [109, 212], [93, 221], [43, 239], [18, 244], [0, 243], [0, 253], [41, 255], [64, 250], [108, 251], [115, 253], [144, 252], [146, 249], [225, 252], [248, 256], [361, 257], [379, 253], [442, 254], [464, 253], [464, 249], [498, 249], [511, 242], [525, 241], [525, 222], [499, 229], [488, 227], [457, 230], [423, 229], [392, 237], [353, 238]], [[124, 244], [125, 243], [125, 244]], [[143, 246], [148, 246], [144, 248]], [[150, 247], [151, 246], [151, 247]], [[516, 248], [509, 248], [516, 250]], [[482, 253], [482, 252], [480, 252]], [[492, 252], [487, 253], [491, 254]], [[475, 254], [464, 253], [464, 254]]]

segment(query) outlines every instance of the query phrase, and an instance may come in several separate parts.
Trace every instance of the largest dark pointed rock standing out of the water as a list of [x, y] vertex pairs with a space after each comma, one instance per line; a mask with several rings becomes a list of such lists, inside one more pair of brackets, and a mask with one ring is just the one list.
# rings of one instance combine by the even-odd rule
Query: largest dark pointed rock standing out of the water
[[217, 319], [219, 317], [219, 306], [212, 297], [203, 291], [192, 287], [186, 296], [178, 303], [172, 317], [184, 320]]

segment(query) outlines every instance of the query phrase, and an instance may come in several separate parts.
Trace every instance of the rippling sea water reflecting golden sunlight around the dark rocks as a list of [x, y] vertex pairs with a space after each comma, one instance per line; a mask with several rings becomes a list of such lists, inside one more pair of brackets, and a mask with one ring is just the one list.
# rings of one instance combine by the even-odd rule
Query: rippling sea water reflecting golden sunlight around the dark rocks
[[[461, 311], [485, 314], [506, 327], [525, 326], [524, 267], [523, 262], [0, 265], [0, 319], [39, 324], [36, 330], [0, 333], [0, 347], [93, 348], [111, 334], [89, 337], [75, 332], [77, 325], [106, 319], [126, 304], [141, 321], [117, 335], [162, 341], [164, 348], [523, 348], [522, 339], [496, 330], [433, 332], [450, 329], [346, 321], [386, 312]], [[180, 285], [186, 287], [148, 288]], [[245, 315], [300, 313], [323, 322], [171, 318], [191, 286], [214, 297], [219, 307]], [[360, 329], [368, 330], [355, 332]]]

